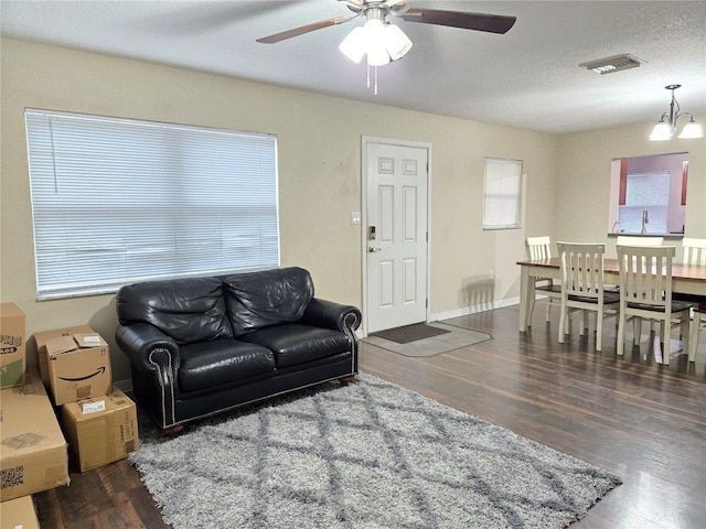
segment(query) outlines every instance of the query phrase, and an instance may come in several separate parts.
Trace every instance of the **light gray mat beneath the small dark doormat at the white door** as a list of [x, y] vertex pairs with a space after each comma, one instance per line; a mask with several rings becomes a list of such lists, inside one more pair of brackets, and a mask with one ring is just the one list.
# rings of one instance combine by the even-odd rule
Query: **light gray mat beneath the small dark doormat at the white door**
[[363, 342], [392, 350], [398, 355], [420, 358], [440, 355], [493, 338], [490, 334], [473, 331], [472, 328], [459, 327], [458, 325], [450, 325], [448, 323], [434, 322], [426, 325], [437, 327], [442, 333], [406, 344], [385, 339], [375, 334], [366, 336], [363, 338]]

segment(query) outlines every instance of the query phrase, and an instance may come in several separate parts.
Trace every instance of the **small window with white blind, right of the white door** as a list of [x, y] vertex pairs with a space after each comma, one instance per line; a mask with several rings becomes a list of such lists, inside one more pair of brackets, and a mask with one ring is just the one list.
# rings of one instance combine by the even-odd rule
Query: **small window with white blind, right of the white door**
[[522, 161], [485, 159], [483, 228], [520, 227]]

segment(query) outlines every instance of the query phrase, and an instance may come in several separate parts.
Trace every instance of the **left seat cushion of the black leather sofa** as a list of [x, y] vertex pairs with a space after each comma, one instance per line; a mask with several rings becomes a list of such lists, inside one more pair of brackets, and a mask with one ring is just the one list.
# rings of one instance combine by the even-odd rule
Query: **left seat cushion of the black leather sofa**
[[180, 347], [179, 386], [195, 391], [275, 370], [272, 352], [257, 344], [218, 339]]

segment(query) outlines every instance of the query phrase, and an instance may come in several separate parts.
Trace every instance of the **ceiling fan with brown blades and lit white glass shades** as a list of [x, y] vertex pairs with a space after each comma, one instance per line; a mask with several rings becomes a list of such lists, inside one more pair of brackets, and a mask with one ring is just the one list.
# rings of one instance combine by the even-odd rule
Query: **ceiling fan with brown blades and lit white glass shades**
[[[367, 63], [382, 66], [391, 60], [400, 58], [411, 47], [411, 41], [404, 32], [385, 20], [388, 15], [406, 22], [446, 25], [463, 30], [506, 33], [515, 23], [515, 17], [500, 14], [467, 13], [440, 9], [409, 8], [407, 0], [338, 0], [345, 2], [352, 15], [334, 17], [311, 24], [293, 28], [257, 39], [257, 42], [274, 44], [331, 25], [365, 18], [365, 25], [355, 28], [341, 43], [341, 51], [352, 61], [360, 62], [367, 54]], [[364, 30], [364, 31], [363, 31]]]

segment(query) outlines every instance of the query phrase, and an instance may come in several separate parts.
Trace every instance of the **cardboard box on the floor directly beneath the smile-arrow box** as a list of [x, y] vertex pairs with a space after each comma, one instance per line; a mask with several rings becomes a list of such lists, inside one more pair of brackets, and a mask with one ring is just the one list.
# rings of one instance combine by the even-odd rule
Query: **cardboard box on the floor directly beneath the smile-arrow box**
[[122, 460], [138, 450], [137, 408], [118, 388], [110, 395], [64, 404], [61, 415], [81, 472]]

